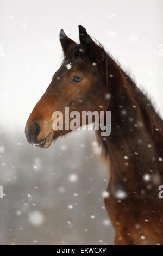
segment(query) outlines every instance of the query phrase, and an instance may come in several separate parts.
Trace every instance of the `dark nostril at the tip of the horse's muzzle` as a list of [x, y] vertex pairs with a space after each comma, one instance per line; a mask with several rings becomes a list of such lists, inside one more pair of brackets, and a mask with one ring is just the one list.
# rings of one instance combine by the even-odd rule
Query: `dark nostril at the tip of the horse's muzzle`
[[32, 120], [30, 122], [28, 130], [25, 131], [27, 141], [32, 144], [39, 144], [39, 141], [37, 140], [37, 135], [39, 135], [40, 132], [40, 125], [36, 120]]

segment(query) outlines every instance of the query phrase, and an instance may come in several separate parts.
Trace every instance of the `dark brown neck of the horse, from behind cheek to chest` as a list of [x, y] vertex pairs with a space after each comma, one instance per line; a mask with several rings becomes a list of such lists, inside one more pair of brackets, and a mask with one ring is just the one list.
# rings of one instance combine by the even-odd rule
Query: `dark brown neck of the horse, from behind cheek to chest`
[[110, 65], [111, 135], [100, 140], [114, 184], [140, 192], [149, 175], [161, 171], [161, 119], [131, 79], [114, 62]]

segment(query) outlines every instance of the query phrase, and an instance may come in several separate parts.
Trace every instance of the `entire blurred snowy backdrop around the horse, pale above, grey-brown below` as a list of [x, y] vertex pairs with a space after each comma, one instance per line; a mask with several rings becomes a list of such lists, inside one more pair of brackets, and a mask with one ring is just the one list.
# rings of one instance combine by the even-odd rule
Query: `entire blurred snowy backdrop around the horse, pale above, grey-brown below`
[[130, 70], [163, 116], [161, 0], [0, 0], [0, 245], [112, 244], [108, 170], [92, 131], [37, 149], [27, 118], [59, 68], [60, 28], [78, 24]]

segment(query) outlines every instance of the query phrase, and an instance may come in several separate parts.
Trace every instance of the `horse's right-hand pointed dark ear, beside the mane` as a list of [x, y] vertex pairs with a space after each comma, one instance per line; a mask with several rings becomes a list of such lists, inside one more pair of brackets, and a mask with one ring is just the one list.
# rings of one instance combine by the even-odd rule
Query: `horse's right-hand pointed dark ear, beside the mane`
[[91, 36], [87, 34], [86, 29], [82, 25], [79, 25], [79, 39], [80, 44], [85, 47], [87, 53], [89, 53], [92, 59], [96, 62], [104, 61], [105, 52], [103, 48], [92, 40]]

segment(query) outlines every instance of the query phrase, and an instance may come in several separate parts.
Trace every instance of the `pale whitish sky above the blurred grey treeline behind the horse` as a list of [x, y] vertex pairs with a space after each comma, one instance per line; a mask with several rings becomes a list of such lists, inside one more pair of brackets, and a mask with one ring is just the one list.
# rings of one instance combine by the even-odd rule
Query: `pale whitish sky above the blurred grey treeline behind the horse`
[[163, 115], [163, 1], [0, 0], [0, 118], [22, 129], [59, 68], [60, 28], [78, 39], [78, 24], [101, 42]]

